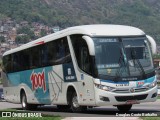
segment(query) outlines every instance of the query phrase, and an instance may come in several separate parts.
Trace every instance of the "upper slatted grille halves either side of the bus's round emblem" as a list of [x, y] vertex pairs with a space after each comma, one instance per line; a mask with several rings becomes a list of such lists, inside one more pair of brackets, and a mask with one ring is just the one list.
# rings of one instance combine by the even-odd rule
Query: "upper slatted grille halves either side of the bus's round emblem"
[[[144, 92], [144, 91], [147, 91], [148, 88], [134, 88], [134, 92]], [[112, 92], [115, 92], [115, 93], [130, 93], [130, 89], [116, 89]]]

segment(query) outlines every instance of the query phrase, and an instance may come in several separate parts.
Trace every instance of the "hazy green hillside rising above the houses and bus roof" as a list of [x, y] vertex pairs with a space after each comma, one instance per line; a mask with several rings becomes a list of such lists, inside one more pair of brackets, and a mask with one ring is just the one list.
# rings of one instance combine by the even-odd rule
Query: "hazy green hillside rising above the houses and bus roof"
[[69, 27], [125, 24], [160, 41], [160, 0], [1, 0], [0, 19]]

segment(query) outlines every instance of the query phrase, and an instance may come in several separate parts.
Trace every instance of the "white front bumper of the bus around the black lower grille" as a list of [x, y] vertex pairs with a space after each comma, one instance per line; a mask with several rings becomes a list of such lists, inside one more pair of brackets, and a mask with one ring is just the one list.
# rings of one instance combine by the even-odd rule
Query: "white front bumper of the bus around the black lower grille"
[[157, 99], [157, 86], [135, 93], [114, 93], [95, 87], [96, 106], [139, 104], [142, 102], [154, 102]]

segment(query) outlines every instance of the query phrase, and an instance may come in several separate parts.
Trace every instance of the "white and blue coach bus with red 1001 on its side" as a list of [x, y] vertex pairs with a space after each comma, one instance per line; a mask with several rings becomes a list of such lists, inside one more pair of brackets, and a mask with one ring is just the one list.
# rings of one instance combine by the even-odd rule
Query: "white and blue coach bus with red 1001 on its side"
[[154, 39], [126, 25], [66, 28], [3, 54], [4, 99], [81, 112], [113, 105], [129, 111], [157, 99]]

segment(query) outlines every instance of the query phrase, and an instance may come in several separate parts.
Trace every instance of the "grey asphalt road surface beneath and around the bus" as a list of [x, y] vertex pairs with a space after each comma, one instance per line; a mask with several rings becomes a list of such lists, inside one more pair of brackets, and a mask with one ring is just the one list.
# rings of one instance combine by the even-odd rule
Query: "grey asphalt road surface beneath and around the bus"
[[[20, 104], [12, 104], [8, 102], [0, 102], [0, 109], [7, 108], [15, 108], [18, 111], [21, 111]], [[84, 113], [72, 113], [70, 111], [60, 111], [56, 108], [56, 106], [42, 106], [38, 107], [34, 111], [30, 112], [40, 112], [43, 114], [48, 115], [59, 115], [62, 117], [116, 117], [116, 116], [134, 116], [134, 117], [141, 117], [142, 115], [146, 116], [156, 116], [160, 117], [160, 100], [157, 100], [153, 103], [142, 103], [138, 105], [134, 105], [130, 112], [124, 114], [120, 113], [116, 107], [113, 106], [105, 106], [105, 107], [96, 107], [92, 109], [88, 109]]]

